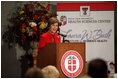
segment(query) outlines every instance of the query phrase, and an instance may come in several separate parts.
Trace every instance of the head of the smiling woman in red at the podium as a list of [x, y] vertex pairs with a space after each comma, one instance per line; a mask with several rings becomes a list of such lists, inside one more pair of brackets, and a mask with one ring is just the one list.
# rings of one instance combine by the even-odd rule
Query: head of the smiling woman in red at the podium
[[51, 17], [48, 21], [48, 31], [52, 34], [56, 33], [58, 30], [59, 21], [56, 17]]

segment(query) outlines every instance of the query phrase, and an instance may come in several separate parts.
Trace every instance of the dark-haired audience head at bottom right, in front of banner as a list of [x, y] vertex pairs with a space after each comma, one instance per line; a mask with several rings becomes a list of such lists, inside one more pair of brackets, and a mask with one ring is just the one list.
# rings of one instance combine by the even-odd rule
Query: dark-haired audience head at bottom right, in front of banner
[[102, 59], [94, 59], [88, 64], [89, 76], [93, 78], [106, 78], [107, 77], [107, 64]]

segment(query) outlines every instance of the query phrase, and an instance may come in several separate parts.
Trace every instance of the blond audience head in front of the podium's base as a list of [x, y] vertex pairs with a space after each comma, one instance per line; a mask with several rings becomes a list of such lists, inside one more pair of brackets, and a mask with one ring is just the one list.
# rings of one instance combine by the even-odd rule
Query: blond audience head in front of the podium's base
[[42, 69], [43, 75], [45, 78], [58, 78], [59, 71], [55, 66], [46, 66]]

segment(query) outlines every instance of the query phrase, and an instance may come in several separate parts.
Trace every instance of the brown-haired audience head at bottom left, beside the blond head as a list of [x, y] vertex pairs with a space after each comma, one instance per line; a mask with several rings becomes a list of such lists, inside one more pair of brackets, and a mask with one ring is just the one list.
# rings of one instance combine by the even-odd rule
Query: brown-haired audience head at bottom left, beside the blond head
[[44, 76], [40, 68], [32, 67], [27, 70], [25, 78], [44, 78]]

